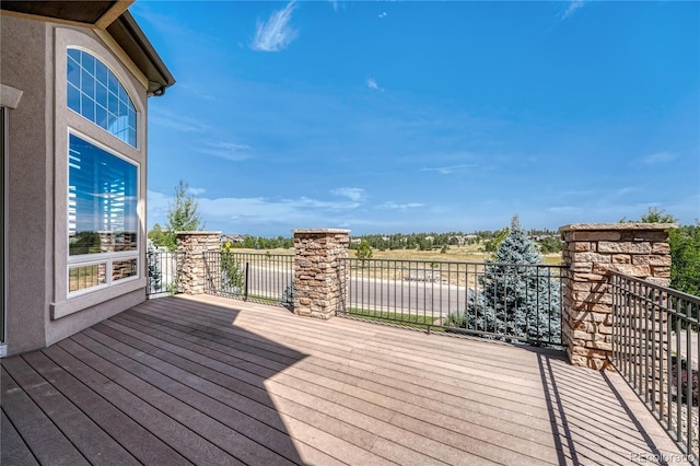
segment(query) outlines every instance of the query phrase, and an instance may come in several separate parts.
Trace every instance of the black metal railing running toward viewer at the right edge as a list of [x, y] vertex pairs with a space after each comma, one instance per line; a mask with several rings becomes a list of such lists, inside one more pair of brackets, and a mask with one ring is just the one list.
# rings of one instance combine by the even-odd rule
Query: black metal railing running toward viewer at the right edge
[[698, 464], [700, 298], [610, 272], [611, 362]]

